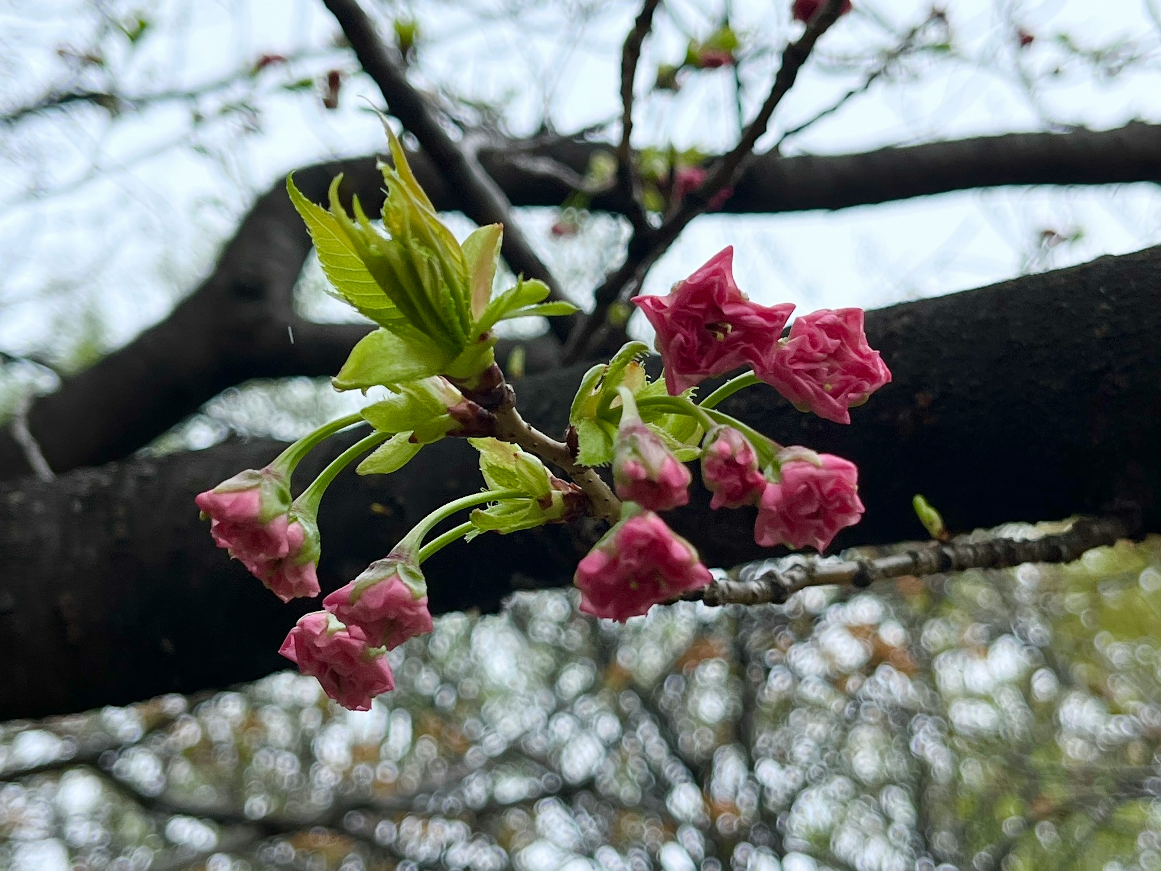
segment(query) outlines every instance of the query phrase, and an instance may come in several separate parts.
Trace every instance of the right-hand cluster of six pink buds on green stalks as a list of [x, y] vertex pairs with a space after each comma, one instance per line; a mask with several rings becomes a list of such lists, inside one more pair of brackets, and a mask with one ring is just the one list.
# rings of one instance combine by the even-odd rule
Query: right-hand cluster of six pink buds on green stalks
[[[613, 447], [613, 482], [626, 501], [625, 518], [580, 562], [580, 609], [625, 620], [654, 604], [709, 583], [692, 545], [654, 512], [688, 502], [691, 475], [665, 441], [642, 420], [639, 405], [683, 410], [702, 424], [701, 480], [712, 509], [757, 508], [755, 541], [763, 547], [829, 547], [858, 523], [858, 469], [852, 462], [802, 447], [784, 448], [717, 412], [716, 403], [765, 382], [795, 406], [836, 423], [890, 381], [863, 331], [861, 309], [822, 310], [799, 317], [784, 339], [792, 304], [759, 305], [738, 289], [733, 250], [726, 249], [668, 296], [634, 302], [656, 331], [670, 397], [621, 387], [621, 419]], [[702, 405], [687, 396], [702, 380], [742, 366]]]

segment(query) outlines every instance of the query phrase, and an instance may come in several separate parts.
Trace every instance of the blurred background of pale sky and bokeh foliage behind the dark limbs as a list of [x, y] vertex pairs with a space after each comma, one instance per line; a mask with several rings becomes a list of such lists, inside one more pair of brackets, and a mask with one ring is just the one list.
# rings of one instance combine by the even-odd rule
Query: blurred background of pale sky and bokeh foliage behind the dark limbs
[[[801, 30], [789, 6], [668, 0], [634, 145], [658, 159], [728, 149]], [[453, 116], [615, 142], [636, 2], [365, 7]], [[648, 87], [722, 28], [736, 63]], [[1156, 123], [1159, 85], [1158, 0], [860, 0], [758, 150]], [[0, 419], [163, 319], [288, 171], [381, 150], [378, 105], [313, 0], [0, 0]], [[623, 255], [623, 218], [515, 219], [578, 303]], [[706, 215], [646, 291], [726, 244], [751, 297], [809, 309], [878, 308], [1159, 240], [1161, 195], [1145, 182]], [[313, 261], [296, 304], [315, 321], [356, 317]], [[648, 338], [643, 322], [630, 332]], [[348, 402], [325, 380], [251, 382], [146, 451], [289, 439]], [[521, 593], [499, 617], [441, 618], [392, 652], [399, 689], [367, 713], [284, 672], [7, 724], [0, 865], [1161, 868], [1158, 539], [1065, 568], [655, 609], [625, 628], [575, 605]]]

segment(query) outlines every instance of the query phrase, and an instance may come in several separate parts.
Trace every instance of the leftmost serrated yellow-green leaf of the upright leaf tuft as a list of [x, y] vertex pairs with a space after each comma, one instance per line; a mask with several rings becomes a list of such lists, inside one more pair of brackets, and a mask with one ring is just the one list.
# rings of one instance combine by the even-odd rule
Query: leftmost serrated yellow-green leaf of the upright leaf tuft
[[[337, 175], [331, 182], [331, 194], [336, 201], [341, 180], [342, 177]], [[402, 324], [403, 315], [372, 276], [339, 219], [303, 196], [295, 187], [293, 175], [287, 177], [287, 193], [307, 224], [323, 274], [331, 282], [334, 294], [381, 326]]]

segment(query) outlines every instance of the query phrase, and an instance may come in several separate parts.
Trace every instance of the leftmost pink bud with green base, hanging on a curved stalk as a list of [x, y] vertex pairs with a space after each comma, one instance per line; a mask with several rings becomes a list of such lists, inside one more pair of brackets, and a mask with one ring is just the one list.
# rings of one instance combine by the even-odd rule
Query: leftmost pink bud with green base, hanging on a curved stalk
[[290, 484], [271, 467], [246, 469], [199, 494], [194, 502], [210, 519], [210, 535], [218, 547], [247, 566], [287, 555]]

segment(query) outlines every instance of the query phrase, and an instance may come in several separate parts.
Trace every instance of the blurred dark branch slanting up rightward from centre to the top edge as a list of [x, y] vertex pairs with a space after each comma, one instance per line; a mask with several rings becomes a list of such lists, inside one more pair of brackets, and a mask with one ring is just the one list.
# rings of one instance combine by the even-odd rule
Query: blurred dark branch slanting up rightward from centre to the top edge
[[[600, 287], [593, 291], [594, 305], [590, 315], [582, 318], [578, 326], [569, 336], [564, 348], [564, 361], [576, 362], [586, 358], [590, 345], [601, 327], [606, 326], [610, 307], [625, 296], [633, 296], [640, 289], [646, 273], [664, 254], [682, 230], [698, 215], [709, 208], [713, 199], [726, 188], [737, 182], [747, 161], [753, 154], [758, 138], [766, 132], [774, 109], [783, 101], [798, 80], [799, 70], [806, 64], [819, 38], [830, 29], [839, 16], [844, 0], [827, 0], [821, 12], [814, 15], [806, 33], [783, 51], [783, 63], [774, 75], [770, 94], [750, 122], [737, 144], [719, 158], [705, 181], [692, 190], [678, 206], [677, 211], [668, 217], [656, 230], [649, 232], [634, 231], [629, 239], [625, 262], [606, 276]], [[623, 85], [622, 85], [623, 89]], [[623, 332], [618, 327], [616, 332]], [[614, 341], [614, 344], [616, 344]]]

